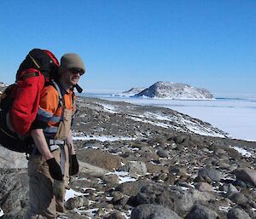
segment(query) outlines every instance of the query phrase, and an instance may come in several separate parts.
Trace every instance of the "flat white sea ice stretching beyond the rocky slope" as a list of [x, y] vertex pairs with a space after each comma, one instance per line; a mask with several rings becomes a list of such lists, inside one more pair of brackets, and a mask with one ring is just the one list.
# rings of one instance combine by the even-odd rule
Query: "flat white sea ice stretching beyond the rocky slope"
[[217, 97], [224, 98], [212, 101], [155, 100], [106, 95], [101, 97], [109, 101], [171, 108], [210, 123], [219, 130], [230, 133], [234, 138], [256, 141], [256, 95], [233, 95], [227, 98], [226, 95], [218, 95]]

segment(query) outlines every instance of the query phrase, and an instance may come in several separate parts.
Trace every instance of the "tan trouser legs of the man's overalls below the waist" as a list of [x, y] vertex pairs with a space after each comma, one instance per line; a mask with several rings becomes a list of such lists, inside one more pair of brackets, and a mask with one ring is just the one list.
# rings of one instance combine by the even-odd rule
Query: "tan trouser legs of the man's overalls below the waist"
[[[68, 149], [65, 150], [65, 186], [69, 179]], [[61, 164], [61, 149], [52, 152], [56, 162]], [[63, 165], [62, 165], [63, 166]], [[63, 170], [62, 170], [63, 171]], [[64, 200], [55, 199], [53, 195], [53, 179], [49, 175], [48, 164], [41, 155], [32, 155], [28, 162], [29, 176], [29, 208], [26, 219], [55, 219], [56, 210], [64, 210]]]

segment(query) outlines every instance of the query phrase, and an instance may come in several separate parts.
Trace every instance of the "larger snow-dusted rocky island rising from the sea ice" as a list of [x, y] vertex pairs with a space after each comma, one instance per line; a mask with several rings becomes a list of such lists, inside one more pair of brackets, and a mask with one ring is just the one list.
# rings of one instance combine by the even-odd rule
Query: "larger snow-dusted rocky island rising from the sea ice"
[[135, 97], [169, 98], [176, 100], [210, 100], [213, 95], [207, 89], [193, 88], [188, 84], [157, 82]]

